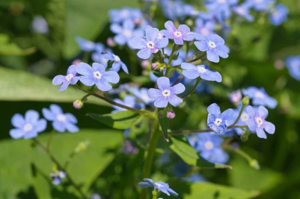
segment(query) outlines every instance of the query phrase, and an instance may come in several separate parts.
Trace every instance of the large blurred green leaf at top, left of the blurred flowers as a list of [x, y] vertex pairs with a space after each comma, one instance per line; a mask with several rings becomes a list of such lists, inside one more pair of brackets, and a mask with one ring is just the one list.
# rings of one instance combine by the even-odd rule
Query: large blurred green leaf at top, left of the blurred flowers
[[[75, 37], [94, 40], [108, 22], [108, 11], [121, 7], [137, 7], [136, 0], [67, 0], [66, 28], [63, 56], [72, 58], [79, 48]], [[109, 31], [109, 30], [105, 30]]]

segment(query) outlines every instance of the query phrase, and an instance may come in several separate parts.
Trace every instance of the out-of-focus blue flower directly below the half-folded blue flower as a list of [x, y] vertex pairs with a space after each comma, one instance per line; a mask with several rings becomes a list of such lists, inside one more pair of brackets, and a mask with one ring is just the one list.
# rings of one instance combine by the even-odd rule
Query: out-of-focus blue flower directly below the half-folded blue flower
[[229, 155], [221, 148], [223, 139], [215, 133], [197, 133], [187, 136], [189, 144], [200, 152], [200, 156], [211, 163], [224, 164]]

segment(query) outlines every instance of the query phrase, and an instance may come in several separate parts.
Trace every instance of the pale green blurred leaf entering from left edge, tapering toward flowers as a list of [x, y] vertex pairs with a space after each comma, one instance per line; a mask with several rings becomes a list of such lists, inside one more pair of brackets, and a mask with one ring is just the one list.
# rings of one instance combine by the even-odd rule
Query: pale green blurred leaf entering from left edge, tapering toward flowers
[[[85, 93], [69, 86], [58, 92], [51, 80], [31, 75], [24, 71], [0, 67], [0, 101], [47, 101], [73, 102]], [[88, 97], [87, 103], [108, 106], [109, 104], [95, 97]]]

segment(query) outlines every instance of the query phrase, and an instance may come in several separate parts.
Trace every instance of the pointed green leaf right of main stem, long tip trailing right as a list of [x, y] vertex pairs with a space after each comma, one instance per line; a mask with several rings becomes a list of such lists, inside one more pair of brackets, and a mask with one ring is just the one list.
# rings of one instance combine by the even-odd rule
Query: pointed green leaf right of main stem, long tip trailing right
[[198, 152], [191, 147], [185, 137], [176, 139], [170, 138], [169, 147], [174, 151], [185, 163], [199, 167], [215, 167], [215, 168], [231, 168], [229, 165], [213, 164], [199, 156]]

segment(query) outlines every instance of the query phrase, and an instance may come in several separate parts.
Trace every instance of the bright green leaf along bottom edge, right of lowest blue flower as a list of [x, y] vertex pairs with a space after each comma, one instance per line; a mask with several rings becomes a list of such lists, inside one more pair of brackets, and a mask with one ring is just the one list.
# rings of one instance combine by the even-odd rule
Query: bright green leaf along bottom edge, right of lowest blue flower
[[173, 189], [183, 190], [183, 193], [178, 191], [178, 194], [182, 195], [184, 199], [249, 199], [259, 195], [259, 191], [256, 190], [234, 188], [210, 182], [179, 183]]

